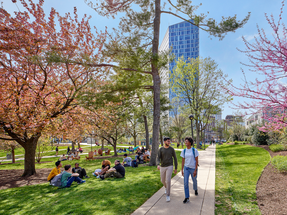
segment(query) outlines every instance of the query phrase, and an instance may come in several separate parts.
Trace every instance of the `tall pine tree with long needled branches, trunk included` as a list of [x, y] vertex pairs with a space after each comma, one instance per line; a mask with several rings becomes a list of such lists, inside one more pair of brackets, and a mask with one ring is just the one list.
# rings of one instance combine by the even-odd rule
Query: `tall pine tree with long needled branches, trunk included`
[[[170, 8], [165, 10], [168, 4]], [[160, 72], [159, 70], [168, 63], [168, 52], [159, 53], [160, 37], [160, 16], [163, 13], [171, 14], [182, 20], [198, 26], [200, 29], [208, 32], [210, 36], [217, 37], [220, 40], [224, 38], [227, 32], [234, 32], [241, 28], [249, 19], [248, 14], [242, 21], [234, 17], [223, 17], [220, 23], [215, 19], [208, 18], [205, 14], [196, 15], [195, 11], [199, 7], [192, 5], [189, 0], [178, 0], [175, 4], [171, 1], [162, 3], [160, 0], [154, 1], [99, 1], [94, 5], [88, 1], [88, 5], [94, 8], [102, 16], [111, 16], [115, 18], [117, 13], [125, 13], [119, 23], [119, 29], [115, 29], [117, 40], [111, 41], [107, 48], [107, 56], [117, 55], [125, 59], [131, 66], [121, 67], [121, 62], [115, 60], [115, 64], [93, 64], [86, 62], [93, 67], [110, 66], [126, 71], [136, 71], [146, 73], [152, 76], [153, 85], [149, 86], [153, 92], [153, 129], [152, 129], [152, 155], [149, 165], [156, 165], [156, 155], [158, 151], [159, 128], [160, 128]], [[186, 19], [187, 18], [187, 19]], [[189, 20], [194, 20], [189, 21]], [[144, 65], [150, 65], [150, 70], [144, 70]], [[126, 65], [126, 64], [125, 64]]]

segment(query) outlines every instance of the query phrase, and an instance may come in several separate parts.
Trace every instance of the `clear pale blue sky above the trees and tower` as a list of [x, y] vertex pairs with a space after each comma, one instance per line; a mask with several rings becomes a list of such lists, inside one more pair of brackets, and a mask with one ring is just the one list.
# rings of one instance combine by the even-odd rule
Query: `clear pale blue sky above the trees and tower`
[[[37, 3], [38, 1], [34, 1]], [[96, 1], [92, 1], [96, 3]], [[278, 21], [278, 16], [280, 14], [280, 9], [282, 7], [281, 1], [255, 1], [255, 0], [243, 0], [243, 1], [230, 1], [230, 0], [221, 0], [221, 1], [193, 1], [193, 4], [198, 5], [202, 3], [202, 5], [197, 10], [197, 14], [199, 13], [207, 13], [209, 12], [208, 17], [215, 18], [218, 22], [220, 21], [222, 16], [234, 16], [237, 15], [237, 19], [242, 20], [248, 12], [251, 12], [251, 17], [247, 24], [243, 28], [236, 30], [235, 33], [228, 33], [226, 37], [219, 41], [216, 38], [208, 38], [208, 34], [206, 32], [200, 31], [199, 33], [199, 54], [203, 57], [210, 56], [218, 63], [218, 68], [220, 68], [225, 74], [228, 74], [229, 78], [232, 78], [233, 83], [239, 86], [243, 83], [243, 75], [241, 72], [241, 68], [247, 74], [247, 78], [249, 80], [254, 80], [258, 77], [256, 74], [248, 72], [248, 68], [243, 67], [240, 62], [247, 63], [249, 62], [248, 58], [245, 54], [236, 50], [236, 48], [240, 50], [245, 49], [245, 44], [242, 40], [242, 36], [248, 39], [249, 42], [254, 41], [254, 36], [257, 36], [257, 24], [259, 28], [263, 28], [265, 33], [269, 38], [271, 38], [271, 28], [268, 25], [264, 14], [266, 13], [270, 16], [272, 13], [275, 17], [275, 21]], [[17, 1], [17, 5], [21, 11], [23, 11], [22, 4], [20, 1]], [[18, 8], [11, 0], [5, 0], [2, 3], [2, 6], [9, 13], [13, 13], [13, 11], [18, 11]], [[119, 23], [119, 17], [123, 16], [119, 15], [116, 19], [107, 19], [106, 17], [102, 17], [98, 15], [92, 8], [90, 8], [84, 0], [46, 0], [44, 2], [44, 10], [46, 14], [49, 14], [51, 7], [54, 7], [56, 11], [58, 11], [61, 15], [65, 13], [73, 13], [73, 7], [77, 7], [78, 17], [79, 19], [86, 13], [87, 15], [91, 15], [92, 19], [90, 21], [90, 26], [96, 26], [97, 30], [105, 30], [107, 26], [108, 32], [112, 32], [112, 28], [117, 28]], [[168, 6], [166, 7], [167, 10]], [[284, 12], [285, 11], [285, 12]], [[282, 20], [286, 20], [287, 17], [287, 7], [283, 7]], [[182, 20], [174, 17], [169, 14], [162, 14], [161, 23], [160, 23], [160, 42], [162, 41], [164, 34], [169, 25], [179, 23]], [[260, 77], [259, 77], [260, 78]], [[217, 84], [217, 83], [214, 83]], [[243, 102], [242, 98], [234, 98], [234, 101]], [[226, 115], [232, 114], [234, 111], [229, 105], [225, 104], [222, 111], [222, 118], [225, 118]]]

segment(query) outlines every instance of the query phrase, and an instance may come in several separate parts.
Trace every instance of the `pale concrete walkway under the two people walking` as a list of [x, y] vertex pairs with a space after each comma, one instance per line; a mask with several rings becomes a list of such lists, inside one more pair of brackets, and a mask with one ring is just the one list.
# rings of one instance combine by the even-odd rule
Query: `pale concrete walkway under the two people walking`
[[[179, 164], [181, 157], [177, 158]], [[194, 195], [191, 176], [189, 177], [189, 202], [183, 204], [185, 199], [183, 176], [181, 169], [171, 179], [170, 202], [166, 202], [165, 188], [162, 187], [132, 215], [214, 215], [215, 193], [215, 146], [199, 151], [199, 167], [197, 175], [198, 196]], [[181, 165], [179, 165], [181, 166]], [[159, 179], [160, 180], [160, 179]]]

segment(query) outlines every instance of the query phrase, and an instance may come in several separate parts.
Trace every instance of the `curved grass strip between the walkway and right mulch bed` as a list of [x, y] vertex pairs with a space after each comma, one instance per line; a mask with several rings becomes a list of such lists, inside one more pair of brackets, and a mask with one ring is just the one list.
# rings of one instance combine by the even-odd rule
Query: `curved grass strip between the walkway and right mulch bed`
[[261, 214], [256, 184], [270, 159], [263, 148], [216, 145], [215, 214]]

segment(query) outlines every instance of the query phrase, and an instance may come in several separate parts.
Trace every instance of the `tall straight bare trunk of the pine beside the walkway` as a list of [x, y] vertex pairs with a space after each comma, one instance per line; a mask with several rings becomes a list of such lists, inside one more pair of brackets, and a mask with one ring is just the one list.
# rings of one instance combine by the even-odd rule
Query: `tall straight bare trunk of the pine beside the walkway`
[[152, 80], [154, 93], [154, 122], [152, 125], [152, 154], [150, 157], [149, 166], [156, 165], [156, 156], [158, 154], [158, 139], [160, 130], [160, 75], [158, 73], [158, 44], [160, 34], [160, 0], [155, 0], [155, 15], [154, 15], [154, 39], [152, 40]]

